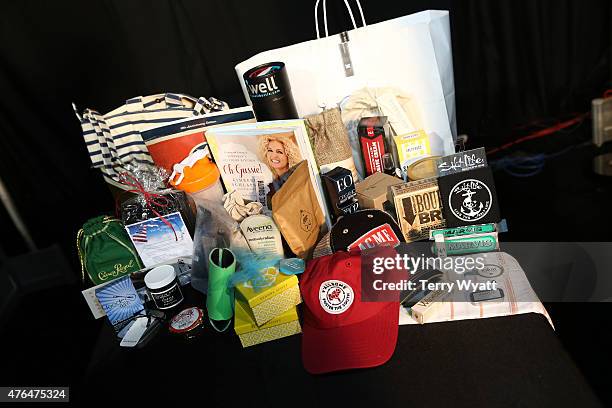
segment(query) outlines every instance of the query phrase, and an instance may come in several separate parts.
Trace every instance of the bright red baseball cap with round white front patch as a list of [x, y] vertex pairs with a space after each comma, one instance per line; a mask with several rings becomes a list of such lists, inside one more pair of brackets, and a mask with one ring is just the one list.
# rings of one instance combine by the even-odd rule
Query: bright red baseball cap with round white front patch
[[308, 263], [300, 279], [304, 300], [302, 361], [311, 374], [375, 367], [397, 342], [399, 301], [361, 301], [359, 251]]

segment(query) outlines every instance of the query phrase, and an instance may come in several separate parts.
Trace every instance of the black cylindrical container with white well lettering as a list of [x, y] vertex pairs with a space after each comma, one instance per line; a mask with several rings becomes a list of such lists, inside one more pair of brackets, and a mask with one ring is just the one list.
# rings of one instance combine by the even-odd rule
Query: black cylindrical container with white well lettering
[[258, 121], [298, 119], [285, 64], [261, 64], [245, 72], [243, 78]]

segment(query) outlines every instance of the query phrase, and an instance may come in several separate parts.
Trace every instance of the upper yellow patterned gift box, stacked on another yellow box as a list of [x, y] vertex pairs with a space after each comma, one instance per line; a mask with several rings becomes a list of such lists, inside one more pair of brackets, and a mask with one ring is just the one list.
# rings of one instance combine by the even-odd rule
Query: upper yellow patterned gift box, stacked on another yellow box
[[275, 267], [268, 268], [257, 282], [239, 284], [235, 293], [251, 309], [258, 326], [302, 302], [297, 277], [283, 275]]

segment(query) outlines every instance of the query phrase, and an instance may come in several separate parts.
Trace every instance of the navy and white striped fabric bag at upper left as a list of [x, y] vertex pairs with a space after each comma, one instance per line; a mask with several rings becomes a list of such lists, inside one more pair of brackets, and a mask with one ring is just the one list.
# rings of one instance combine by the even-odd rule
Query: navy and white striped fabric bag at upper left
[[156, 124], [229, 109], [215, 98], [194, 98], [184, 94], [159, 94], [128, 99], [125, 105], [105, 115], [85, 109], [79, 115], [83, 138], [93, 167], [104, 178], [119, 181], [118, 175], [132, 162], [153, 164], [141, 131]]

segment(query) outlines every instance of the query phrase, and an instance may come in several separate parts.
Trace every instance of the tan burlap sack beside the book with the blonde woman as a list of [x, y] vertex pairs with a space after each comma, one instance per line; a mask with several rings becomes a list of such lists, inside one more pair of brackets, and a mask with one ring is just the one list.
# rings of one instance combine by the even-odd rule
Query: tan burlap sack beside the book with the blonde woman
[[340, 109], [327, 109], [315, 115], [308, 115], [304, 119], [315, 160], [321, 173], [327, 173], [336, 167], [344, 167], [353, 173], [355, 180], [358, 180], [348, 133], [342, 123]]

